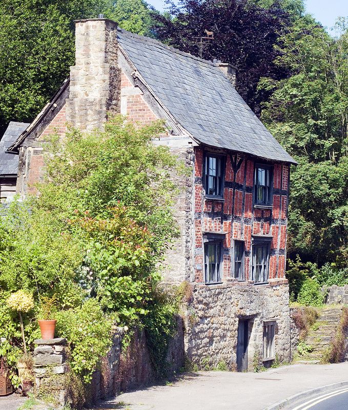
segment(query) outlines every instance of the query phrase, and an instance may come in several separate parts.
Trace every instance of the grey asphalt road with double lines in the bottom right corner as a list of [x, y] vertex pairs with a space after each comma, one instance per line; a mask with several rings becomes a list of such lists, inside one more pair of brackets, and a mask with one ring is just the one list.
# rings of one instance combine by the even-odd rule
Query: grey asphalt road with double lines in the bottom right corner
[[309, 399], [292, 410], [347, 410], [348, 388], [341, 387], [330, 393], [323, 393], [314, 399]]

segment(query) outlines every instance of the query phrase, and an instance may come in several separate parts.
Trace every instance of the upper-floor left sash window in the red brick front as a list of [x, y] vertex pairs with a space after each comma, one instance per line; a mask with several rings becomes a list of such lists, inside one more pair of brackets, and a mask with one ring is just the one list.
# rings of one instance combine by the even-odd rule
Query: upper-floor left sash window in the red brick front
[[206, 156], [205, 188], [208, 196], [223, 196], [224, 157], [219, 155]]

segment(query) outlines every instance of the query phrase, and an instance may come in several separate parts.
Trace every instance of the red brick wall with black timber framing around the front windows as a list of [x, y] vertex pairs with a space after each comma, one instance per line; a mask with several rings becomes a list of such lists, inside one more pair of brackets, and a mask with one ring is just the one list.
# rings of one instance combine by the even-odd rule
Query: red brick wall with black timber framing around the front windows
[[[236, 163], [242, 159], [236, 172]], [[204, 281], [203, 241], [204, 233], [224, 233], [222, 280], [231, 278], [233, 265], [233, 240], [244, 240], [244, 269], [249, 279], [251, 267], [252, 235], [272, 235], [270, 253], [270, 279], [283, 280], [285, 276], [286, 219], [288, 206], [289, 167], [274, 164], [273, 206], [260, 209], [253, 204], [254, 160], [250, 158], [226, 158], [223, 200], [204, 198], [202, 185], [204, 149], [195, 148], [195, 280]], [[236, 178], [234, 179], [234, 175]]]

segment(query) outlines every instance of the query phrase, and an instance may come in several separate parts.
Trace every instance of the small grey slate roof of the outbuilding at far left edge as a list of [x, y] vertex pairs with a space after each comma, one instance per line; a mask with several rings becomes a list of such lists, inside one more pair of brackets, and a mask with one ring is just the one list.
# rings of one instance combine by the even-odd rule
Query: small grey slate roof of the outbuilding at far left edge
[[25, 122], [11, 121], [5, 134], [0, 140], [0, 175], [17, 175], [18, 155], [8, 154], [5, 151], [29, 126]]

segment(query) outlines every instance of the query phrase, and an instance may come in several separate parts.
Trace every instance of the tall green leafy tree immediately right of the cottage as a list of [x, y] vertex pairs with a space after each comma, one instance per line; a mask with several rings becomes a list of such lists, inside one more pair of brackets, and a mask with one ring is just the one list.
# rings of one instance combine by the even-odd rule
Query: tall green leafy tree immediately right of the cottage
[[281, 37], [276, 63], [289, 78], [263, 78], [272, 91], [262, 120], [299, 162], [292, 169], [289, 251], [305, 260], [348, 261], [348, 34], [332, 38], [308, 18]]

